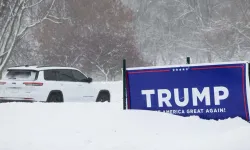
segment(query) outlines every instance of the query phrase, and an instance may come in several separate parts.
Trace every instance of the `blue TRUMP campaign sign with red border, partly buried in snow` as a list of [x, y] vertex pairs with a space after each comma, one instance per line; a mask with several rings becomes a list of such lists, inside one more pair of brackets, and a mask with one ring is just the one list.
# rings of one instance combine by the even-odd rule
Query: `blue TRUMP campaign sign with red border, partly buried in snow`
[[249, 121], [248, 63], [127, 68], [128, 109]]

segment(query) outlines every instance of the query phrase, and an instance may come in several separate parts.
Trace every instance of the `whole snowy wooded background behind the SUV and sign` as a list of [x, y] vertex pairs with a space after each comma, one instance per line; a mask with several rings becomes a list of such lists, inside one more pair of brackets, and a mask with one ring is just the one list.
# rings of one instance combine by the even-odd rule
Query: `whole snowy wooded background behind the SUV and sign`
[[249, 60], [248, 0], [0, 0], [0, 70], [60, 65], [95, 80], [128, 67]]

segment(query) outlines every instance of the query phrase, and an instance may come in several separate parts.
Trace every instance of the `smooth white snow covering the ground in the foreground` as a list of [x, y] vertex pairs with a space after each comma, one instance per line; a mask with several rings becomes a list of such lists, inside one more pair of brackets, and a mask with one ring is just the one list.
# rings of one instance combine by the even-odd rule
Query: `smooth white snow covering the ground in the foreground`
[[[99, 83], [102, 84], [102, 83]], [[250, 150], [250, 124], [122, 110], [112, 103], [0, 104], [0, 150]]]

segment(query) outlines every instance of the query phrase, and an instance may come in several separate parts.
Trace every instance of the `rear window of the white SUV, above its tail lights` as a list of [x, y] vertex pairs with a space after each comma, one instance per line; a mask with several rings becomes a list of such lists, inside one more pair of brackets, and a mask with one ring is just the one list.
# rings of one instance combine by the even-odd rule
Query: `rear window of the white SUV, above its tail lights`
[[5, 79], [33, 81], [36, 80], [37, 73], [32, 70], [8, 70]]

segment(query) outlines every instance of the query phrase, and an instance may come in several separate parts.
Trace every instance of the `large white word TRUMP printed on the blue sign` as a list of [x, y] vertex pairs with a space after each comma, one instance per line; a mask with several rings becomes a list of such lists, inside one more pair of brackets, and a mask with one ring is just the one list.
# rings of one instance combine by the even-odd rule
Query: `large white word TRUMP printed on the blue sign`
[[[168, 89], [158, 89], [157, 90], [157, 99], [158, 99], [158, 107], [163, 107], [165, 104], [167, 107], [172, 107], [172, 103], [170, 100], [174, 97], [174, 102], [179, 107], [185, 107], [190, 103], [189, 100], [189, 90], [188, 88], [184, 88], [184, 98], [180, 98], [179, 89], [175, 88], [173, 95]], [[206, 106], [211, 105], [211, 96], [210, 96], [210, 88], [204, 87], [200, 92], [198, 88], [192, 88], [192, 105], [198, 106], [198, 101], [205, 101]], [[225, 100], [229, 96], [229, 90], [223, 86], [213, 87], [214, 91], [214, 104], [220, 105], [222, 100]], [[141, 94], [146, 96], [147, 107], [152, 107], [151, 95], [156, 94], [155, 90], [141, 90]], [[183, 99], [183, 100], [181, 100]]]

